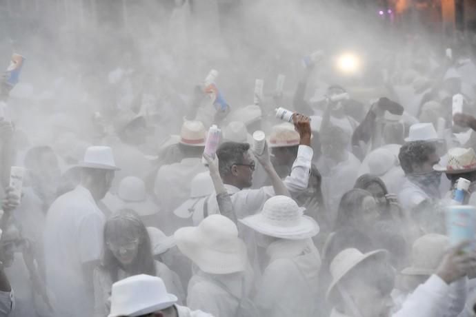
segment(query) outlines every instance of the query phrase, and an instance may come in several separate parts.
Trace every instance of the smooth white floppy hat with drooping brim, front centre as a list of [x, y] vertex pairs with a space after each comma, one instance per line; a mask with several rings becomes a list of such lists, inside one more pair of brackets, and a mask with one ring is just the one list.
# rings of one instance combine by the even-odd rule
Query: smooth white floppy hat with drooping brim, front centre
[[231, 274], [246, 269], [246, 245], [235, 223], [212, 214], [198, 227], [183, 227], [174, 234], [177, 247], [198, 267], [210, 274]]

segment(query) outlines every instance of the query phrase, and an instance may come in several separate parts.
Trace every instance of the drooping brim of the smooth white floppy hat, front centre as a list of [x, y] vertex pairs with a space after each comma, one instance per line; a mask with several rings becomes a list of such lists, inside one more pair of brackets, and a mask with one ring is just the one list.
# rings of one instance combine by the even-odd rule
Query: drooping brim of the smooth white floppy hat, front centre
[[180, 252], [190, 258], [198, 267], [210, 274], [231, 274], [246, 270], [246, 245], [240, 238], [233, 243], [237, 252], [219, 252], [201, 244], [198, 227], [182, 227], [175, 234], [175, 242]]

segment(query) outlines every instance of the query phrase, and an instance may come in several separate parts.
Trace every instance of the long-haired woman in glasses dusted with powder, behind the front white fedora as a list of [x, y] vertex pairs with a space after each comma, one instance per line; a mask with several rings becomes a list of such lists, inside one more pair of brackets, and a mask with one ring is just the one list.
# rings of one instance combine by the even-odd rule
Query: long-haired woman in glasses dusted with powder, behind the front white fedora
[[154, 260], [150, 236], [139, 215], [131, 209], [123, 209], [106, 221], [101, 264], [95, 269], [95, 317], [109, 314], [109, 298], [112, 284], [137, 274], [162, 278], [179, 302], [184, 298], [180, 280], [165, 264]]

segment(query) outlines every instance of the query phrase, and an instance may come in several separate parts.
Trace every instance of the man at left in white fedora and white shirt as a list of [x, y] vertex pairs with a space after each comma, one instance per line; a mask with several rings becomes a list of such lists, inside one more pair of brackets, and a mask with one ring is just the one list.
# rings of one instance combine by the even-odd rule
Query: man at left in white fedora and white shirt
[[105, 217], [97, 201], [118, 168], [110, 147], [88, 147], [81, 183], [54, 201], [46, 216], [46, 285], [57, 316], [92, 316], [92, 271], [101, 256]]

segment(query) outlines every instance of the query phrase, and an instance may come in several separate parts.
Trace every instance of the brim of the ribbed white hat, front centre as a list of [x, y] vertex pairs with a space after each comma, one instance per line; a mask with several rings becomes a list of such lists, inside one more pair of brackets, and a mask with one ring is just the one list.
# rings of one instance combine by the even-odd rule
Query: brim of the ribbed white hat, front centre
[[254, 229], [260, 234], [284, 238], [288, 240], [302, 240], [311, 238], [319, 233], [319, 225], [309, 216], [301, 216], [299, 224], [292, 227], [279, 227], [268, 223], [263, 214], [255, 214], [239, 220], [241, 223]]

